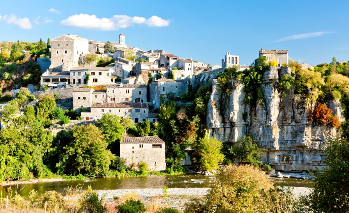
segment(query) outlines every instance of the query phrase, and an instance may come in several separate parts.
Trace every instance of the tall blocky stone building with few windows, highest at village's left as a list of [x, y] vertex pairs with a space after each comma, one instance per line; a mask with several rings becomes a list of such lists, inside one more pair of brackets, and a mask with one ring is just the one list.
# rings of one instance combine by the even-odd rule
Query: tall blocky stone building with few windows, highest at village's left
[[53, 71], [67, 71], [64, 63], [76, 64], [81, 54], [89, 53], [89, 42], [76, 35], [62, 35], [51, 40], [51, 66]]

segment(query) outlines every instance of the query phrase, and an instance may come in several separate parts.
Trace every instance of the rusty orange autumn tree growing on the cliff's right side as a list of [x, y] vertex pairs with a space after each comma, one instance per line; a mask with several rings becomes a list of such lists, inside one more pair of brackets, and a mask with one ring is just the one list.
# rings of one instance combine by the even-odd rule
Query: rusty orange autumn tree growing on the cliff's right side
[[332, 115], [332, 112], [332, 109], [318, 102], [315, 109], [308, 110], [308, 119], [322, 125], [331, 125], [332, 127], [339, 128], [342, 123], [339, 121], [337, 115]]

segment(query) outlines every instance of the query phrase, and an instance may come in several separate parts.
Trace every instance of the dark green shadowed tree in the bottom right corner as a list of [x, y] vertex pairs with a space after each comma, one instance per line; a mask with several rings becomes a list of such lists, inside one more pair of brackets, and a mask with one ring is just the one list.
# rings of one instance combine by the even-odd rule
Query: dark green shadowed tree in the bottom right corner
[[349, 143], [340, 138], [329, 139], [324, 153], [328, 167], [314, 173], [315, 185], [309, 194], [309, 206], [319, 213], [348, 212]]

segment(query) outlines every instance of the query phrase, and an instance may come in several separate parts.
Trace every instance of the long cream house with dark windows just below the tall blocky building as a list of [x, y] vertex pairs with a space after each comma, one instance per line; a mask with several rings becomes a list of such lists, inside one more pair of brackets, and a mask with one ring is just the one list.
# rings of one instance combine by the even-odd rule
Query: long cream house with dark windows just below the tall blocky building
[[[113, 67], [73, 67], [70, 69], [70, 83], [76, 86], [116, 83]], [[87, 81], [86, 74], [90, 74]]]

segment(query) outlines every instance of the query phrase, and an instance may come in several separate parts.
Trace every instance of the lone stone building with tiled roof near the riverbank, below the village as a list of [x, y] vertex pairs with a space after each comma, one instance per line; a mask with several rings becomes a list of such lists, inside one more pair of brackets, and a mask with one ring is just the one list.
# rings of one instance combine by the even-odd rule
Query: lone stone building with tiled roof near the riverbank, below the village
[[164, 171], [165, 142], [158, 136], [123, 137], [120, 142], [120, 158], [126, 159], [126, 165], [138, 165], [141, 161], [148, 164], [151, 171]]

